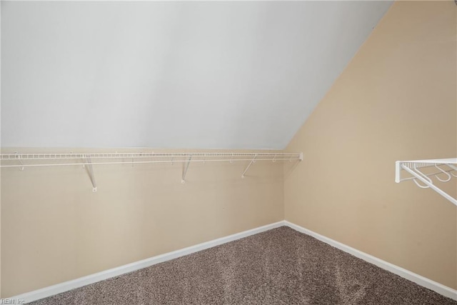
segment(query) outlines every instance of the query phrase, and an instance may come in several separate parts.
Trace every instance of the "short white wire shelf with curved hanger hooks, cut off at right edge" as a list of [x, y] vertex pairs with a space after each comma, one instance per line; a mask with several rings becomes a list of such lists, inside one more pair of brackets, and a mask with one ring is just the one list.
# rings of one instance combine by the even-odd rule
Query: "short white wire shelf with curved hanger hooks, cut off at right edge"
[[[423, 169], [427, 169], [424, 173]], [[434, 169], [432, 172], [428, 172]], [[407, 171], [411, 176], [402, 178], [402, 170]], [[413, 160], [413, 161], [396, 161], [395, 163], [395, 181], [413, 180], [417, 186], [422, 189], [431, 188], [444, 198], [451, 201], [457, 206], [457, 199], [447, 194], [442, 189], [438, 188], [431, 178], [435, 178], [441, 182], [451, 181], [453, 177], [457, 177], [457, 158], [450, 159], [430, 159], [430, 160]], [[419, 183], [418, 181], [421, 181]]]

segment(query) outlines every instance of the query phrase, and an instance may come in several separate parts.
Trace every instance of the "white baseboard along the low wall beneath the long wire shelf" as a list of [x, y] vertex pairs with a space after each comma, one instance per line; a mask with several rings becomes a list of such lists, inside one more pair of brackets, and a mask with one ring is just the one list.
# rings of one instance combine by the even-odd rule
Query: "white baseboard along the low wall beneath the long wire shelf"
[[188, 254], [192, 254], [194, 252], [209, 249], [214, 246], [219, 246], [221, 244], [226, 244], [229, 241], [236, 241], [237, 239], [242, 239], [244, 237], [251, 236], [253, 234], [258, 234], [263, 231], [275, 229], [275, 228], [278, 228], [279, 226], [283, 226], [283, 225], [284, 225], [284, 221], [278, 221], [278, 222], [275, 222], [274, 224], [267, 224], [266, 226], [259, 226], [258, 228], [255, 228], [255, 229], [243, 231], [243, 232], [233, 234], [230, 236], [221, 237], [220, 239], [214, 239], [212, 241], [206, 241], [202, 244], [196, 244], [195, 246], [189, 246], [184, 249], [179, 249], [179, 250], [172, 251], [172, 252], [169, 252], [166, 254], [153, 256], [149, 259], [135, 261], [134, 263], [131, 263], [131, 264], [126, 264], [124, 266], [119, 266], [119, 267], [116, 267], [113, 269], [108, 269], [105, 271], [98, 272], [96, 274], [83, 276], [83, 277], [80, 277], [79, 279], [65, 281], [64, 283], [56, 284], [53, 286], [48, 286], [43, 289], [26, 292], [25, 294], [19, 294], [17, 296], [11, 296], [7, 299], [24, 300], [26, 303], [29, 303], [31, 301], [36, 301], [39, 299], [44, 299], [48, 296], [54, 296], [56, 294], [61, 294], [62, 292], [69, 291], [71, 289], [76, 289], [76, 288], [86, 286], [89, 284], [94, 284], [97, 281], [103, 281], [105, 279], [110, 279], [114, 276], [120, 276], [122, 274], [126, 274], [131, 271], [136, 271], [139, 269], [143, 269], [143, 268], [155, 265], [155, 264], [162, 263], [164, 261], [169, 261], [171, 259], [177, 259], [178, 257], [181, 257], [181, 256], [185, 256]]

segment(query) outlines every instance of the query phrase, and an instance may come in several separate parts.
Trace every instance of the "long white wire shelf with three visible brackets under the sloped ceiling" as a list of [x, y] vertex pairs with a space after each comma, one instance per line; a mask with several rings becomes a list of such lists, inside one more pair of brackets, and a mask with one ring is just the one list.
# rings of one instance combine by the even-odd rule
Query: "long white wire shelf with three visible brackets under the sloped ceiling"
[[84, 166], [87, 169], [93, 191], [97, 191], [94, 165], [102, 164], [151, 164], [151, 163], [184, 163], [181, 183], [185, 183], [187, 170], [191, 162], [216, 161], [249, 161], [241, 174], [244, 178], [246, 171], [256, 161], [301, 161], [302, 153], [222, 153], [222, 152], [189, 152], [189, 153], [114, 153], [114, 154], [0, 154], [0, 167], [16, 167], [24, 170], [29, 166]]

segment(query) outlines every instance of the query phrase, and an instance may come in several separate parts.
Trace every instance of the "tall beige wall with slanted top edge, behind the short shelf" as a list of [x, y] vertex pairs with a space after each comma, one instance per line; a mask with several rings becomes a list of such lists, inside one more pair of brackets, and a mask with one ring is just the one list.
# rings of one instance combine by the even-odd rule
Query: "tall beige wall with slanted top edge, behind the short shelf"
[[456, 7], [391, 6], [288, 145], [284, 187], [286, 220], [453, 289], [456, 206], [394, 163], [457, 156]]

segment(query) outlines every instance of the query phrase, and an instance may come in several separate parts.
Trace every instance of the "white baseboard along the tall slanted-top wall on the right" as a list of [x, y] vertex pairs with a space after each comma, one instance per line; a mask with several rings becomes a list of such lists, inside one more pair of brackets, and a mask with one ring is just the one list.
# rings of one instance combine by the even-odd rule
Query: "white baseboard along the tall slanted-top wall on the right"
[[415, 274], [411, 271], [408, 271], [406, 269], [403, 269], [399, 266], [396, 266], [394, 264], [388, 263], [387, 261], [383, 261], [382, 259], [378, 259], [375, 256], [372, 256], [370, 254], [366, 254], [365, 252], [358, 251], [357, 249], [352, 248], [351, 246], [346, 246], [345, 244], [341, 244], [339, 241], [335, 241], [333, 239], [329, 239], [326, 236], [323, 236], [321, 234], [317, 234], [316, 232], [313, 232], [311, 230], [305, 229], [302, 226], [298, 226], [296, 224], [292, 224], [289, 221], [284, 221], [284, 224], [291, 229], [294, 229], [298, 232], [307, 234], [309, 236], [313, 236], [315, 239], [318, 239], [320, 241], [323, 241], [326, 244], [329, 244], [331, 246], [334, 246], [335, 248], [338, 248], [342, 251], [347, 252], [348, 254], [351, 254], [353, 256], [358, 257], [359, 259], [363, 259], [363, 261], [368, 261], [368, 263], [371, 263], [373, 265], [376, 265], [382, 269], [385, 269], [387, 271], [391, 271], [393, 274], [396, 274], [398, 276], [403, 277], [404, 279], [408, 279], [409, 281], [413, 281], [414, 283], [426, 287], [428, 289], [431, 289], [438, 294], [441, 294], [443, 296], [447, 296], [450, 299], [456, 300], [457, 301], [457, 290], [449, 288], [448, 286], [444, 286], [443, 284], [439, 284], [436, 281], [432, 281], [431, 279], [427, 279], [424, 276], [420, 276], [418, 274]]

